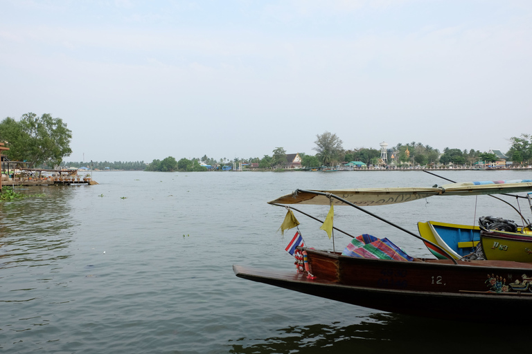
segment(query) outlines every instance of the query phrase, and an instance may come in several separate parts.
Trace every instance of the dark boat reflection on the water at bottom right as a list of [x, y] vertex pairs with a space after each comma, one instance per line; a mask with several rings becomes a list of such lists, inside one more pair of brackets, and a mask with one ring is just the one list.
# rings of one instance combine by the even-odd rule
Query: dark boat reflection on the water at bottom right
[[[357, 306], [346, 306], [355, 311]], [[309, 310], [308, 315], [312, 315]], [[474, 317], [474, 311], [464, 318]], [[346, 317], [348, 315], [346, 314]], [[522, 342], [526, 329], [512, 326], [511, 319], [488, 324], [425, 319], [391, 313], [359, 317], [360, 322], [312, 324], [280, 328], [263, 338], [229, 340], [230, 353], [385, 353], [423, 350], [449, 353], [470, 350], [506, 349], [508, 343]], [[504, 325], [500, 325], [504, 322]], [[495, 327], [494, 327], [495, 325]], [[492, 337], [493, 336], [493, 337]]]

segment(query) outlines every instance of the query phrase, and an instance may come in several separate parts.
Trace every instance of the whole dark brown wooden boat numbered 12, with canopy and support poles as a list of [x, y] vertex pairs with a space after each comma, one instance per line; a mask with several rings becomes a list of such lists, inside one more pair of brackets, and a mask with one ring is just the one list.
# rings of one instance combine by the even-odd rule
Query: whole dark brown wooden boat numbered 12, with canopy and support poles
[[393, 313], [445, 319], [468, 319], [470, 316], [473, 320], [493, 321], [493, 310], [500, 309], [512, 314], [511, 322], [529, 322], [526, 308], [532, 305], [532, 286], [529, 286], [532, 282], [532, 264], [459, 261], [431, 241], [360, 207], [404, 203], [436, 195], [504, 193], [501, 192], [503, 190], [532, 191], [532, 183], [512, 181], [501, 185], [499, 181], [429, 188], [334, 191], [297, 189], [293, 194], [277, 198], [269, 204], [289, 207], [289, 212], [299, 212], [292, 207], [294, 204], [351, 205], [360, 212], [432, 244], [447, 259], [367, 259], [348, 257], [339, 252], [299, 248], [306, 253], [307, 266], [303, 272], [278, 272], [239, 265], [233, 265], [233, 270], [240, 278]]

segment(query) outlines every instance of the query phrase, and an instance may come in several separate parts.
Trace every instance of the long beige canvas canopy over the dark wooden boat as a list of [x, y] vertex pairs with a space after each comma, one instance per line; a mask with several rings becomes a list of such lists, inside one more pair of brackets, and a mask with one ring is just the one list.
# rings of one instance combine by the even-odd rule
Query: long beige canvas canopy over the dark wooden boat
[[429, 196], [478, 196], [484, 194], [504, 194], [518, 192], [532, 192], [532, 180], [495, 180], [481, 182], [451, 183], [434, 187], [391, 187], [391, 188], [355, 188], [332, 190], [297, 189], [268, 202], [269, 204], [307, 204], [307, 205], [346, 205], [335, 198], [326, 195], [334, 194], [349, 203], [360, 206], [389, 205], [416, 201]]

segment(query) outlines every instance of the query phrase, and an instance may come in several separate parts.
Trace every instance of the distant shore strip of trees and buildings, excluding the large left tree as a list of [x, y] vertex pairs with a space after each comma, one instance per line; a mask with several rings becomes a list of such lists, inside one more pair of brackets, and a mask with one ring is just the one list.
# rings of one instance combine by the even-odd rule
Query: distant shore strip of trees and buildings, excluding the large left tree
[[[314, 141], [315, 155], [287, 153], [283, 147], [276, 147], [272, 156], [262, 158], [181, 158], [173, 156], [150, 163], [137, 162], [91, 162], [91, 169], [134, 169], [143, 171], [190, 172], [190, 171], [292, 171], [321, 169], [335, 170], [411, 170], [411, 169], [528, 169], [532, 161], [532, 135], [521, 134], [510, 138], [511, 148], [481, 152], [475, 149], [434, 149], [421, 142], [399, 143], [394, 147], [382, 142], [381, 149], [344, 149], [342, 140], [335, 133], [326, 131], [317, 134]], [[296, 156], [296, 160], [291, 160]], [[363, 162], [364, 167], [346, 167], [348, 162]], [[89, 167], [83, 162], [63, 162], [65, 167]], [[144, 165], [142, 168], [141, 166]], [[118, 167], [120, 166], [120, 167]], [[122, 168], [121, 168], [122, 167]]]

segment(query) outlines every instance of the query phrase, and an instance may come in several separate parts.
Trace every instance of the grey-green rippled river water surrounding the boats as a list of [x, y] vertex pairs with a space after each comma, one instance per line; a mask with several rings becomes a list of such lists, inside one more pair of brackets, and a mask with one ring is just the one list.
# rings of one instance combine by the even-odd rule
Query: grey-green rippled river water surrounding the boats
[[[531, 171], [438, 173], [457, 181], [532, 177]], [[277, 232], [285, 209], [267, 201], [296, 188], [447, 183], [423, 171], [96, 171], [93, 179], [100, 184], [20, 187], [44, 196], [0, 203], [2, 353], [443, 353], [493, 351], [529, 336], [528, 328], [508, 326], [520, 314], [505, 313], [504, 306], [463, 314], [493, 312], [490, 324], [444, 322], [233, 274], [233, 264], [294, 268], [284, 250], [294, 232]], [[530, 217], [528, 203], [521, 204]], [[328, 212], [305, 209], [320, 218]], [[512, 209], [488, 196], [434, 197], [371, 211], [413, 232], [418, 221], [472, 224], [486, 215], [517, 220]], [[332, 249], [319, 223], [296, 217], [310, 247]], [[335, 208], [335, 226], [387, 236], [411, 256], [429, 257], [414, 237], [351, 207]], [[350, 240], [337, 233], [336, 248]]]

